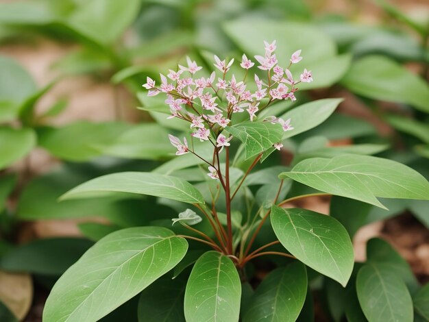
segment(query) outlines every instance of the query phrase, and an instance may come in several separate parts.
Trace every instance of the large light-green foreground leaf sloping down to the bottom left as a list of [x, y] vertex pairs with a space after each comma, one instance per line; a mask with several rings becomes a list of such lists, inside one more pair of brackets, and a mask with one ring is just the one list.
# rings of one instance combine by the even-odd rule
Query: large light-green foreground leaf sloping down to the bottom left
[[170, 271], [188, 245], [162, 227], [133, 227], [96, 243], [60, 277], [44, 321], [97, 321]]

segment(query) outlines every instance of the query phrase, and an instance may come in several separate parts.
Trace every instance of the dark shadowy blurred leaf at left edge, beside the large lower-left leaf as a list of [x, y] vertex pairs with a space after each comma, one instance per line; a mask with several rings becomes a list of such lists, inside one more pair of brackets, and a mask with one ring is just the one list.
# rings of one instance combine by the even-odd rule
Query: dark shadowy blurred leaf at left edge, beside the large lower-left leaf
[[61, 275], [92, 245], [81, 238], [34, 240], [5, 253], [0, 267], [7, 271]]

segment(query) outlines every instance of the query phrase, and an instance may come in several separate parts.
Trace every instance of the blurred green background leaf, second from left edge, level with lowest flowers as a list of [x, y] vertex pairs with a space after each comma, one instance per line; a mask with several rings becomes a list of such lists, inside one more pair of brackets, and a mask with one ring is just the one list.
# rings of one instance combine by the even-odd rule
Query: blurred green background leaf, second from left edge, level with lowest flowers
[[38, 129], [38, 144], [62, 160], [82, 162], [100, 156], [97, 147], [108, 145], [130, 125], [125, 123], [91, 123], [78, 121], [64, 127]]

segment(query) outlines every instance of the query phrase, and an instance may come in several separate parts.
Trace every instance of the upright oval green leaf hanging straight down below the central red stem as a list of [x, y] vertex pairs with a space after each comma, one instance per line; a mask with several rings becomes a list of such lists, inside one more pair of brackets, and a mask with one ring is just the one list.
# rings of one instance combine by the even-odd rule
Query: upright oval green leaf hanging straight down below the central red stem
[[197, 260], [186, 285], [186, 321], [238, 321], [241, 282], [234, 263], [217, 251]]

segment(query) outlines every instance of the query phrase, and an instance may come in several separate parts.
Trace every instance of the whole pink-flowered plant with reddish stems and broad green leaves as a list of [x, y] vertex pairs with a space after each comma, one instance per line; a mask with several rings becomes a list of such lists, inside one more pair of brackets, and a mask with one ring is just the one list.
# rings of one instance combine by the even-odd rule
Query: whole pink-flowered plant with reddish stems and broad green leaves
[[[354, 199], [385, 208], [378, 197], [429, 199], [429, 183], [403, 164], [344, 153], [254, 171], [341, 102], [321, 99], [278, 116], [279, 101], [295, 101], [299, 84], [312, 82], [312, 74], [304, 69], [297, 80], [289, 69], [302, 60], [301, 51], [291, 54], [289, 66], [279, 66], [275, 48], [275, 41], [265, 42], [265, 55], [255, 56], [257, 66], [243, 55], [243, 79], [232, 73], [234, 59], [216, 55], [217, 71], [208, 77], [197, 76], [202, 67], [190, 58], [187, 66], [161, 74], [159, 86], [147, 77], [148, 95], [166, 95], [168, 118], [187, 123], [191, 132], [183, 139], [169, 134], [182, 161], [147, 173], [98, 177], [63, 198], [137, 193], [158, 197], [179, 214], [168, 225], [154, 221], [101, 238], [53, 287], [45, 321], [97, 321], [138, 293], [143, 321], [295, 321], [308, 310], [303, 307], [310, 272], [329, 277], [334, 287], [347, 286], [351, 277], [360, 280], [357, 292], [365, 294], [373, 276], [389, 277], [376, 260], [356, 276], [352, 233], [339, 213], [326, 216], [294, 208], [294, 202], [335, 195], [336, 204]], [[251, 69], [257, 71], [253, 77]], [[278, 268], [253, 290], [249, 281], [262, 258]], [[371, 313], [365, 299], [361, 306]]]

